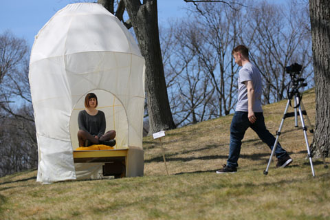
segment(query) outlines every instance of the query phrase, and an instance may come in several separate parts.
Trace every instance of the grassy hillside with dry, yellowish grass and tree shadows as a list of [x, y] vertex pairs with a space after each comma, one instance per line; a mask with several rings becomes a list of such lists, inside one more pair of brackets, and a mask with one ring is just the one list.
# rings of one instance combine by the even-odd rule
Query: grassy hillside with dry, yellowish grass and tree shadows
[[[315, 118], [314, 89], [303, 103]], [[278, 130], [286, 100], [265, 106], [266, 126]], [[289, 109], [292, 111], [292, 108]], [[36, 183], [36, 170], [0, 178], [0, 219], [330, 219], [329, 168], [306, 159], [301, 126], [285, 120], [280, 142], [294, 162], [263, 175], [270, 149], [248, 129], [239, 170], [216, 174], [228, 157], [232, 115], [144, 138], [144, 177]], [[305, 120], [306, 122], [306, 120]], [[309, 143], [312, 140], [309, 135]], [[329, 158], [326, 159], [329, 163]]]

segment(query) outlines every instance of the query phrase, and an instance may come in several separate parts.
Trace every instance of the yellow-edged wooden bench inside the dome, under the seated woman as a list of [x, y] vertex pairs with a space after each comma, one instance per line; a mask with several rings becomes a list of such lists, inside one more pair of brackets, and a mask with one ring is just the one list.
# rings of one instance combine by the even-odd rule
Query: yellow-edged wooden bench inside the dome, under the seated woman
[[115, 178], [126, 176], [128, 149], [74, 151], [75, 163], [104, 163], [103, 175]]

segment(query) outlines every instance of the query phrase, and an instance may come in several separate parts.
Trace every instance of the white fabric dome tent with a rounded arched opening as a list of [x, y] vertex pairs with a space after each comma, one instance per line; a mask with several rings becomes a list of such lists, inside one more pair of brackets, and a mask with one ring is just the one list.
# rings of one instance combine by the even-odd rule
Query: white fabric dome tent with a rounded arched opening
[[133, 36], [102, 5], [74, 3], [54, 14], [36, 36], [30, 57], [37, 181], [100, 177], [104, 162], [74, 160], [78, 112], [89, 92], [98, 96], [106, 131], [117, 133], [109, 151], [126, 151], [126, 177], [143, 175], [144, 69]]

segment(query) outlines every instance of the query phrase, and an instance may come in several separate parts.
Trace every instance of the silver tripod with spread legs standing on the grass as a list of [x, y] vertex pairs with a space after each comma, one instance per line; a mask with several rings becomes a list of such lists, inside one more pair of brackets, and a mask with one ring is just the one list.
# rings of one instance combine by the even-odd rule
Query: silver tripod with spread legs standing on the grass
[[[298, 88], [299, 88], [298, 87], [298, 82], [299, 81], [302, 82], [303, 80], [304, 79], [294, 80], [293, 90], [290, 93], [289, 98], [287, 100], [287, 105], [285, 107], [285, 111], [284, 111], [283, 118], [281, 120], [280, 127], [279, 127], [278, 131], [276, 131], [276, 140], [275, 140], [275, 143], [274, 143], [274, 146], [273, 146], [273, 149], [272, 149], [272, 153], [270, 155], [270, 160], [269, 160], [269, 162], [267, 164], [266, 170], [263, 171], [263, 174], [264, 175], [267, 175], [268, 174], [268, 169], [270, 168], [270, 163], [272, 162], [272, 157], [273, 157], [274, 152], [276, 150], [276, 146], [277, 146], [277, 143], [278, 143], [278, 137], [281, 135], [281, 130], [282, 130], [282, 126], [283, 126], [283, 123], [284, 123], [285, 118], [295, 117], [295, 126], [298, 127], [297, 116], [299, 115], [300, 116], [300, 120], [301, 120], [301, 125], [303, 126], [303, 132], [304, 132], [304, 136], [305, 136], [305, 142], [306, 142], [307, 153], [308, 153], [308, 157], [309, 157], [309, 163], [311, 164], [311, 173], [312, 173], [313, 177], [315, 177], [314, 166], [313, 166], [313, 162], [311, 160], [311, 152], [309, 151], [309, 144], [308, 144], [308, 139], [307, 139], [307, 132], [306, 132], [307, 131], [307, 127], [305, 126], [303, 115], [306, 115], [307, 122], [309, 123], [309, 127], [310, 128], [311, 128], [311, 122], [309, 121], [307, 112], [306, 112], [306, 110], [304, 108], [304, 105], [303, 105], [303, 102], [302, 102], [302, 96], [300, 96], [299, 91], [298, 91]], [[302, 85], [300, 85], [300, 87], [301, 86], [305, 86], [305, 85], [307, 85], [307, 84], [302, 84]], [[287, 113], [287, 109], [289, 108], [289, 104], [291, 104], [291, 101], [290, 100], [292, 98], [294, 98], [294, 104], [295, 104], [294, 113]], [[298, 108], [298, 112], [297, 112], [297, 108]], [[318, 145], [318, 142], [316, 140], [316, 137], [315, 137], [315, 134], [314, 134], [313, 129], [310, 129], [309, 132], [310, 133], [313, 133], [314, 141], [316, 143], [316, 148], [320, 152], [320, 155], [322, 157], [323, 163], [325, 164], [325, 168], [327, 168], [328, 166], [327, 166], [327, 163], [325, 162], [325, 157], [322, 155], [322, 152], [320, 150], [320, 146]]]

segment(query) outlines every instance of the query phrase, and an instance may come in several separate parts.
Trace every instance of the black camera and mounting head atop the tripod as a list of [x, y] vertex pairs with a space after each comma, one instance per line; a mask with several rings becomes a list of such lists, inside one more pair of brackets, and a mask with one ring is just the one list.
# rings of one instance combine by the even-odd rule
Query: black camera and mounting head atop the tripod
[[287, 87], [287, 97], [289, 98], [289, 100], [291, 100], [293, 97], [299, 98], [297, 105], [294, 107], [295, 109], [299, 107], [300, 101], [303, 99], [303, 94], [300, 94], [299, 89], [307, 86], [307, 83], [304, 83], [305, 78], [299, 78], [301, 74], [301, 68], [302, 66], [298, 63], [294, 63], [288, 67], [285, 67], [285, 71], [287, 72], [287, 74], [290, 74], [291, 78], [291, 81]]

